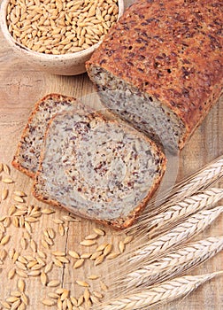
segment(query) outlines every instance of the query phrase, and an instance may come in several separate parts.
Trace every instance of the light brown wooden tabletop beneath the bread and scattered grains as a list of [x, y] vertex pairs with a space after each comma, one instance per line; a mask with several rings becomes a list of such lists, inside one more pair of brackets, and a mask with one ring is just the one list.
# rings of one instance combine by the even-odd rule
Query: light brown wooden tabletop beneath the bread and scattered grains
[[[27, 193], [25, 205], [39, 205], [42, 208], [46, 205], [40, 204], [35, 198], [32, 198], [32, 181], [24, 174], [19, 173], [11, 166], [12, 156], [16, 149], [17, 143], [22, 128], [26, 124], [27, 117], [31, 112], [35, 101], [50, 92], [57, 92], [68, 96], [83, 97], [94, 92], [92, 83], [88, 80], [87, 74], [79, 76], [54, 76], [50, 74], [43, 74], [42, 72], [33, 71], [32, 67], [20, 62], [19, 58], [13, 55], [12, 50], [5, 46], [4, 38], [0, 34], [0, 162], [6, 163], [11, 167], [11, 175], [14, 182], [12, 184], [4, 184], [2, 179], [4, 174], [0, 174], [0, 192], [3, 188], [9, 190], [9, 197], [0, 204], [0, 217], [9, 213], [9, 208], [15, 204], [12, 198], [13, 190], [24, 190]], [[208, 117], [200, 128], [196, 130], [194, 136], [191, 137], [189, 143], [183, 151], [181, 151], [177, 160], [177, 165], [168, 167], [168, 175], [173, 181], [192, 174], [196, 169], [203, 167], [212, 159], [217, 158], [223, 154], [223, 107], [222, 102], [215, 105]], [[221, 184], [222, 186], [222, 184]], [[100, 227], [94, 222], [81, 220], [78, 222], [65, 221], [65, 227], [68, 228], [65, 236], [59, 236], [58, 224], [55, 224], [52, 219], [60, 218], [66, 214], [64, 210], [55, 210], [56, 212], [50, 215], [42, 215], [39, 221], [33, 223], [31, 238], [35, 240], [37, 247], [47, 252], [46, 261], [51, 260], [52, 251], [68, 251], [75, 250], [77, 252], [92, 251], [79, 244], [79, 242], [92, 232], [93, 228]], [[13, 216], [12, 216], [13, 217]], [[11, 220], [12, 220], [11, 217]], [[53, 228], [57, 232], [54, 239], [54, 244], [49, 250], [44, 249], [41, 244], [43, 230], [46, 228]], [[222, 216], [211, 225], [211, 228], [206, 229], [199, 238], [205, 236], [222, 235], [223, 218]], [[0, 245], [0, 251], [5, 249], [8, 253], [10, 249], [19, 251], [20, 255], [36, 255], [27, 244], [27, 249], [23, 250], [20, 245], [20, 239], [24, 236], [26, 229], [16, 228], [12, 222], [9, 227], [5, 229], [5, 233], [11, 236], [8, 244]], [[124, 237], [124, 233], [120, 236], [105, 229], [106, 236], [98, 239], [98, 244], [103, 242], [110, 242], [114, 244], [117, 249], [119, 240]], [[131, 244], [129, 244], [131, 246]], [[69, 258], [71, 263], [65, 264], [64, 267], [54, 266], [49, 274], [49, 280], [57, 279], [61, 282], [63, 287], [69, 289], [71, 294], [79, 297], [83, 291], [75, 284], [76, 280], [86, 279], [90, 273], [96, 273], [97, 269], [94, 267], [92, 261], [84, 264], [80, 269], [73, 269], [72, 258]], [[8, 272], [15, 267], [10, 259], [9, 254], [3, 260], [3, 265], [0, 265], [0, 300], [5, 300], [9, 297], [11, 291], [16, 291], [18, 275], [15, 275], [11, 280], [8, 279]], [[104, 273], [107, 270], [107, 261], [101, 265]], [[223, 253], [219, 253], [213, 259], [205, 262], [201, 267], [197, 267], [191, 271], [193, 275], [202, 275], [204, 273], [223, 270]], [[47, 296], [50, 291], [55, 291], [54, 288], [42, 286], [39, 276], [24, 279], [26, 282], [26, 294], [28, 296], [27, 309], [56, 309], [57, 306], [45, 307], [42, 306], [41, 299]], [[90, 290], [92, 289], [93, 281], [90, 282]], [[96, 284], [94, 284], [96, 285]], [[223, 305], [223, 276], [213, 279], [198, 288], [195, 292], [184, 298], [181, 301], [160, 306], [159, 309], [165, 310], [220, 310]], [[1, 307], [0, 307], [1, 308]]]

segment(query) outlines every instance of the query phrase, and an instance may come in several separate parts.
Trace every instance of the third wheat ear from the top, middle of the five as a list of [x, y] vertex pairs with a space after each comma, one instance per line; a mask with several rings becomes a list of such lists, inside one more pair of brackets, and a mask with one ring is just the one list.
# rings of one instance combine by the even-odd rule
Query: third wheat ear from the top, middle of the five
[[[188, 241], [192, 236], [196, 236], [196, 234], [208, 227], [222, 212], [223, 205], [219, 205], [210, 210], [203, 210], [190, 215], [185, 221], [170, 229], [169, 232], [152, 239], [144, 245], [142, 244], [138, 250], [132, 252], [134, 256], [128, 258], [128, 262], [140, 267], [140, 263], [143, 264], [144, 260], [154, 259], [162, 252]], [[129, 256], [129, 253], [127, 255]]]

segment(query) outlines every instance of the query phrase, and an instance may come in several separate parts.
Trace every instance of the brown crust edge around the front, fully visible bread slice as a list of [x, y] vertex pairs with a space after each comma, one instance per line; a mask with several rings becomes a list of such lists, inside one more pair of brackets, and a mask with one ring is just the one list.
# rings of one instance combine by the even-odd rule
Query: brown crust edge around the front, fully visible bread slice
[[[86, 109], [86, 107], [85, 107]], [[88, 107], [87, 107], [88, 109]], [[92, 110], [90, 109], [89, 111], [92, 112]], [[99, 113], [99, 112], [94, 112], [94, 114], [101, 118], [104, 121], [107, 121], [104, 118], [104, 115]], [[57, 115], [55, 117], [53, 117], [48, 125], [48, 129], [45, 132], [45, 139], [44, 141], [46, 141], [46, 138], [48, 136], [49, 130], [50, 130], [50, 124], [53, 122], [53, 120], [57, 117]], [[109, 120], [110, 122], [113, 123], [119, 123], [118, 120]], [[121, 121], [121, 120], [120, 120]], [[95, 221], [102, 223], [106, 226], [110, 226], [112, 229], [127, 229], [129, 226], [131, 226], [138, 218], [138, 216], [142, 213], [142, 211], [145, 209], [148, 201], [150, 200], [150, 198], [153, 196], [153, 194], [155, 193], [155, 191], [158, 189], [158, 185], [160, 184], [163, 175], [165, 174], [165, 169], [166, 169], [166, 158], [165, 158], [165, 154], [163, 153], [163, 151], [161, 151], [161, 149], [158, 147], [158, 145], [156, 143], [154, 143], [153, 141], [150, 140], [149, 137], [143, 135], [142, 133], [137, 132], [134, 128], [129, 128], [129, 130], [134, 130], [135, 135], [136, 136], [143, 136], [143, 138], [150, 143], [151, 148], [158, 154], [158, 158], [160, 160], [161, 163], [161, 171], [160, 171], [160, 175], [158, 175], [157, 179], [155, 180], [155, 182], [153, 182], [152, 186], [150, 187], [150, 189], [148, 189], [148, 195], [142, 199], [141, 203], [139, 205], [136, 205], [134, 210], [128, 214], [127, 218], [122, 219], [115, 219], [113, 221], [104, 221], [104, 220], [100, 220], [100, 219], [94, 219]], [[37, 184], [39, 184], [39, 175], [42, 173], [42, 161], [44, 159], [44, 148], [42, 149], [42, 153], [41, 153], [41, 158], [40, 158], [40, 166], [39, 169], [37, 171], [37, 173], [35, 174], [35, 182], [34, 182], [34, 187], [33, 187], [33, 195], [35, 198], [41, 200], [43, 203], [49, 204], [49, 205], [54, 205], [57, 207], [61, 207], [61, 208], [65, 208], [67, 209], [69, 212], [72, 212], [72, 208], [67, 207], [66, 205], [61, 205], [57, 200], [53, 199], [53, 198], [49, 198], [46, 196], [43, 196], [42, 194], [40, 194], [38, 192], [38, 190], [36, 190], [36, 186]], [[79, 216], [81, 216], [81, 214], [77, 214]]]

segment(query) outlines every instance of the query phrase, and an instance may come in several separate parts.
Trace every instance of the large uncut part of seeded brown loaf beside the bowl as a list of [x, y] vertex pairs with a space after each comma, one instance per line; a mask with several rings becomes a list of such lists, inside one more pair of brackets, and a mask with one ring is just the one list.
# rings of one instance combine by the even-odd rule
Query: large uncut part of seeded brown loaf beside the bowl
[[222, 92], [222, 3], [137, 0], [87, 62], [106, 107], [172, 151]]

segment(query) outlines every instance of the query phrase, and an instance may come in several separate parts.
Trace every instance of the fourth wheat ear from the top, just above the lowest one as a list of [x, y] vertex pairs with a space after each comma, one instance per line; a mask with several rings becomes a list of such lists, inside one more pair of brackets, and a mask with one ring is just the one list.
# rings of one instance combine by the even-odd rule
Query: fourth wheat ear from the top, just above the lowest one
[[142, 268], [129, 271], [125, 270], [119, 281], [119, 287], [123, 287], [123, 293], [135, 289], [135, 287], [150, 286], [160, 283], [171, 277], [181, 275], [194, 267], [211, 259], [223, 249], [223, 236], [211, 236], [192, 244], [181, 246], [175, 251], [167, 252], [158, 260], [151, 263], [144, 262]]

